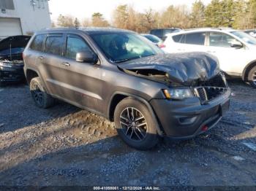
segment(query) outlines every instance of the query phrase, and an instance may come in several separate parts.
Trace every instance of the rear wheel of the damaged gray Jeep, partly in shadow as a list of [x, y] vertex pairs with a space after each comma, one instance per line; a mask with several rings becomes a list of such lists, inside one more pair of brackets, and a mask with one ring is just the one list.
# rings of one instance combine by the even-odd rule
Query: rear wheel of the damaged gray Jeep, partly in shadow
[[53, 106], [54, 98], [45, 92], [45, 88], [42, 85], [42, 81], [39, 77], [31, 79], [30, 82], [30, 92], [34, 103], [39, 108], [48, 108]]

